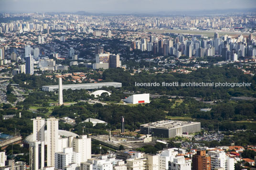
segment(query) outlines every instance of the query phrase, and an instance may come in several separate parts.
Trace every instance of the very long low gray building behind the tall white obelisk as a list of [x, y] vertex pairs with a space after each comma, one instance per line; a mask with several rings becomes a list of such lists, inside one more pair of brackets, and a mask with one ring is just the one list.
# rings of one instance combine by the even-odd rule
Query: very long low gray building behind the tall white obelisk
[[[101, 89], [103, 86], [106, 87], [115, 87], [115, 88], [120, 88], [122, 87], [122, 83], [118, 82], [104, 82], [104, 83], [86, 83], [86, 84], [66, 84], [62, 85], [62, 89], [64, 90], [80, 90], [80, 89], [85, 89], [85, 90], [92, 90], [92, 89]], [[58, 90], [59, 86], [58, 85], [53, 85], [53, 86], [42, 86], [43, 91], [55, 91]]]

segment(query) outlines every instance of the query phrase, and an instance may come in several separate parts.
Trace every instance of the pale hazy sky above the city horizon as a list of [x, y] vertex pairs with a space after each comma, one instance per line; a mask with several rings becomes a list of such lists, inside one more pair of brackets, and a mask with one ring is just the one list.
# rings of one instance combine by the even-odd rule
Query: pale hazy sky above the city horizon
[[256, 0], [0, 0], [0, 12], [150, 13], [256, 8]]

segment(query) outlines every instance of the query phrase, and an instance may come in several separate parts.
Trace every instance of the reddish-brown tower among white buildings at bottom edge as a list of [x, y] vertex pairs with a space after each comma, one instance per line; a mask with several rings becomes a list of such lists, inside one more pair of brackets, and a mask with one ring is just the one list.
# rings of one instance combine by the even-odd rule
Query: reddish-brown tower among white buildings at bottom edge
[[197, 150], [192, 157], [192, 170], [211, 170], [211, 157], [205, 150]]

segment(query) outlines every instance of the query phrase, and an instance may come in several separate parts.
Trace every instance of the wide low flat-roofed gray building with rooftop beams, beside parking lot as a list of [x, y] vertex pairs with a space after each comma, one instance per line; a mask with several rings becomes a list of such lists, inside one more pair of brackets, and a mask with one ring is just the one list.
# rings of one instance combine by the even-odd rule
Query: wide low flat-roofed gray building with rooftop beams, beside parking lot
[[176, 135], [199, 132], [200, 122], [161, 120], [153, 123], [140, 125], [140, 132], [163, 138], [172, 138]]

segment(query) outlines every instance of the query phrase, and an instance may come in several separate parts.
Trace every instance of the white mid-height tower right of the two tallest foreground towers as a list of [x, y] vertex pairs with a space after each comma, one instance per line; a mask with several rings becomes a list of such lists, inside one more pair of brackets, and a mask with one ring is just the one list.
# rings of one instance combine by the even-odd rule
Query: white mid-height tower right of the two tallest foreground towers
[[87, 138], [87, 135], [80, 135], [79, 138], [74, 138], [73, 150], [81, 153], [81, 162], [91, 159], [91, 138]]

